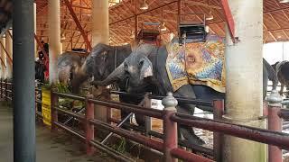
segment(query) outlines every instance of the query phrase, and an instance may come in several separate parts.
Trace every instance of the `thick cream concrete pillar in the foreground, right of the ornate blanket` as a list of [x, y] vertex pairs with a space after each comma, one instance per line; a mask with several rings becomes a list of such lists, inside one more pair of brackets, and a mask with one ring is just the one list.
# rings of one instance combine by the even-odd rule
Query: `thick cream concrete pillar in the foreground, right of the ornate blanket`
[[[266, 128], [263, 116], [263, 0], [228, 0], [236, 25], [237, 44], [227, 29], [225, 120]], [[266, 161], [266, 145], [224, 137], [224, 162]]]

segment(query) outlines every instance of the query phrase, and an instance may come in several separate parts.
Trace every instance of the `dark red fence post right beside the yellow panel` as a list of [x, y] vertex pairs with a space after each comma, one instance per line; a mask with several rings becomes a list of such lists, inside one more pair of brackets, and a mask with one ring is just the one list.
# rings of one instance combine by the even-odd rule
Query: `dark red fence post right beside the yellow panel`
[[[58, 112], [54, 107], [58, 106], [58, 95], [53, 94], [57, 92], [57, 88], [51, 87], [51, 130], [57, 130], [57, 126], [54, 124], [54, 121], [58, 121]], [[43, 114], [43, 113], [42, 113]]]

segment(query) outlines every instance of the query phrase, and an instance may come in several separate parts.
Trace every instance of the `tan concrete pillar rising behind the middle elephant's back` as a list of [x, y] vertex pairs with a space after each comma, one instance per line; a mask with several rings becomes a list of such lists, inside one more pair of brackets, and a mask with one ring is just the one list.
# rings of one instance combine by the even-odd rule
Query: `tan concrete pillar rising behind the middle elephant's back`
[[[108, 22], [108, 1], [92, 0], [92, 47], [98, 43], [109, 44], [109, 22]], [[105, 91], [105, 87], [98, 87], [94, 95]], [[104, 96], [107, 99], [109, 95]], [[107, 108], [96, 105], [95, 118], [101, 121], [107, 121]]]

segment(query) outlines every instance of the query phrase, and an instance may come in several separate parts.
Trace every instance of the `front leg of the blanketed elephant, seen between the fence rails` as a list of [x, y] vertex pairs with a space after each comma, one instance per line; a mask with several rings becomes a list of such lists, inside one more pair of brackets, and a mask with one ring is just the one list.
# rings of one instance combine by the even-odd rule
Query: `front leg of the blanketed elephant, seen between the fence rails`
[[[189, 97], [189, 98], [196, 98], [196, 95], [193, 92], [191, 85], [183, 85], [179, 90], [173, 93], [174, 96], [180, 97]], [[177, 112], [191, 114], [193, 115], [195, 109], [195, 105], [187, 104], [187, 103], [180, 103], [177, 106]], [[179, 135], [182, 134], [184, 139], [187, 139], [191, 145], [203, 145], [205, 144], [204, 140], [200, 139], [194, 132], [192, 127], [186, 125], [178, 125]]]

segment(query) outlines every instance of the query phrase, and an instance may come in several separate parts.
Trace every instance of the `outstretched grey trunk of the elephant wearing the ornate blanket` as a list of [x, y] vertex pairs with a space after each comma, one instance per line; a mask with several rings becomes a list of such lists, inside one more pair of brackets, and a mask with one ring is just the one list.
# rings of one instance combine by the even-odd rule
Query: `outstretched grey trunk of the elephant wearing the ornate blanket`
[[119, 79], [122, 78], [122, 76], [125, 75], [125, 69], [124, 69], [124, 63], [122, 63], [120, 66], [118, 66], [105, 80], [102, 81], [92, 81], [92, 85], [100, 85], [100, 86], [106, 86], [111, 85], [114, 82], [117, 82]]

